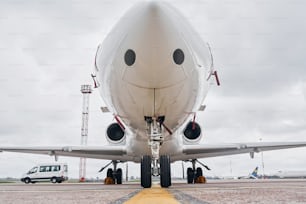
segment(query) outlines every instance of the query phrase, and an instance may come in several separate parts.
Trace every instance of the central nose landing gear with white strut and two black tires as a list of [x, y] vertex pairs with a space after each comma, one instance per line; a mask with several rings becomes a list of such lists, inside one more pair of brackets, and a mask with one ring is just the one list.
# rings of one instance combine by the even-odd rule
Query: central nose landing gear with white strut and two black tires
[[163, 143], [162, 126], [165, 117], [145, 117], [147, 123], [148, 144], [151, 148], [152, 157], [145, 155], [141, 158], [141, 186], [150, 188], [152, 185], [152, 175], [160, 176], [161, 187], [171, 186], [171, 164], [170, 156], [159, 155], [160, 147]]

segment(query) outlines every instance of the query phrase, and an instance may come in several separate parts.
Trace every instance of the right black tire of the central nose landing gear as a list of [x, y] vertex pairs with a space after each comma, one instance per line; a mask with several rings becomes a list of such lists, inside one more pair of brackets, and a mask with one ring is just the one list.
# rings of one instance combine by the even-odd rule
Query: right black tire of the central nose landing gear
[[163, 188], [171, 186], [171, 164], [168, 155], [162, 155], [159, 158], [160, 162], [160, 185]]

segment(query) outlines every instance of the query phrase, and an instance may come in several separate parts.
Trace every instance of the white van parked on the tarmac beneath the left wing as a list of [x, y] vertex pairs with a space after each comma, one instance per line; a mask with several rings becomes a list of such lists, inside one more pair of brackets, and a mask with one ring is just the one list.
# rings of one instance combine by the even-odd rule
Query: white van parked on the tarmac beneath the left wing
[[21, 181], [36, 183], [39, 181], [51, 181], [61, 183], [68, 180], [68, 165], [65, 163], [39, 164], [22, 175]]

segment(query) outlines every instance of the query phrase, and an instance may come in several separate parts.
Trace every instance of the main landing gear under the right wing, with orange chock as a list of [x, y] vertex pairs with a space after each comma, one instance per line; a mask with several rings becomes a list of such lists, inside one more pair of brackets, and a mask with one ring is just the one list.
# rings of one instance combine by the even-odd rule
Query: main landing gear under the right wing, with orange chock
[[195, 167], [196, 162], [201, 164], [207, 170], [210, 170], [210, 168], [208, 166], [204, 165], [199, 160], [197, 160], [197, 159], [191, 160], [192, 168], [189, 167], [187, 169], [187, 183], [188, 184], [192, 184], [192, 183], [206, 183], [206, 178], [203, 176], [202, 168], [200, 168], [200, 167], [196, 168]]

